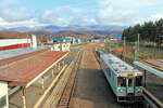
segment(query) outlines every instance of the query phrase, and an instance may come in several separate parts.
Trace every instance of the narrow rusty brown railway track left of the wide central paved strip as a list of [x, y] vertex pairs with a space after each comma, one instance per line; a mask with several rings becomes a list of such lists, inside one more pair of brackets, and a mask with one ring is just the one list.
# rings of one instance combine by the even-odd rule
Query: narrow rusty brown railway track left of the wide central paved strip
[[78, 67], [80, 65], [82, 56], [83, 56], [83, 52], [80, 51], [78, 53], [77, 59], [75, 60], [75, 64], [72, 69], [72, 73], [71, 73], [68, 81], [63, 90], [62, 96], [59, 100], [57, 108], [68, 108], [68, 106], [70, 106], [70, 102], [71, 102], [73, 91], [74, 91], [74, 85], [75, 85], [75, 78], [76, 78]]

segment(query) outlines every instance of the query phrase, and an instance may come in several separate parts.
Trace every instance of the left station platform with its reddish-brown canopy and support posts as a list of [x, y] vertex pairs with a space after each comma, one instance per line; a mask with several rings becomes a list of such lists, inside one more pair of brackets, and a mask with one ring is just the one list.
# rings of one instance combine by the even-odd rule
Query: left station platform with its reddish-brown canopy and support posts
[[67, 54], [43, 49], [1, 57], [0, 107], [33, 108], [64, 68]]

